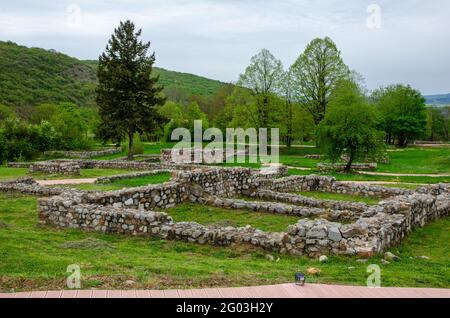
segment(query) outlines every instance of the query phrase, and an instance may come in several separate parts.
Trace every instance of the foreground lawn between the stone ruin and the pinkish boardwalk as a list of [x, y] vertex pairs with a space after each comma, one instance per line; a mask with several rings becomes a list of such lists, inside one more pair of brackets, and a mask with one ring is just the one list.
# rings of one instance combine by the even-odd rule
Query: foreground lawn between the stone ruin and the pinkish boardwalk
[[[82, 288], [194, 288], [293, 281], [295, 272], [321, 270], [307, 282], [365, 285], [368, 264], [330, 257], [319, 263], [244, 246], [212, 247], [157, 238], [57, 230], [37, 224], [36, 198], [0, 194], [0, 290], [64, 289], [66, 269], [81, 267]], [[95, 248], [85, 239], [105, 245]], [[81, 242], [80, 242], [81, 241]], [[382, 286], [450, 288], [450, 218], [416, 229], [391, 251], [398, 262], [380, 265]], [[78, 248], [67, 248], [67, 243]], [[84, 245], [85, 244], [85, 245]], [[82, 248], [85, 246], [85, 248]], [[90, 246], [90, 247], [89, 247]], [[80, 248], [81, 247], [81, 248]], [[430, 259], [418, 259], [417, 256]]]

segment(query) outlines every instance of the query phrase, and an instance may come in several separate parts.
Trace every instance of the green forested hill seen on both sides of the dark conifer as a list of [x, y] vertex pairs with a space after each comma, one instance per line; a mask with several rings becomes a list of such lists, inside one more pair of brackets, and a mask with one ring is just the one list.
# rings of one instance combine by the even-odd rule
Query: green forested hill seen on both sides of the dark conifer
[[[54, 50], [0, 41], [0, 104], [11, 106], [73, 102], [95, 105], [96, 61]], [[224, 85], [204, 77], [155, 68], [168, 95], [210, 97]]]

